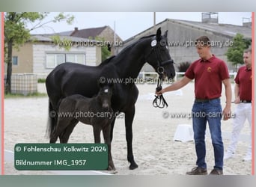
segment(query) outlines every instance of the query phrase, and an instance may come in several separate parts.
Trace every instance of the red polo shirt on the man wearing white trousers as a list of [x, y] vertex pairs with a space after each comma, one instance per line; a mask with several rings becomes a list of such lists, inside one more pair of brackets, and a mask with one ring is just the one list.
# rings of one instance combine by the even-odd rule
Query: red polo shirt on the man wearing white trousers
[[246, 66], [240, 67], [234, 79], [239, 85], [239, 95], [241, 100], [252, 100], [252, 69]]

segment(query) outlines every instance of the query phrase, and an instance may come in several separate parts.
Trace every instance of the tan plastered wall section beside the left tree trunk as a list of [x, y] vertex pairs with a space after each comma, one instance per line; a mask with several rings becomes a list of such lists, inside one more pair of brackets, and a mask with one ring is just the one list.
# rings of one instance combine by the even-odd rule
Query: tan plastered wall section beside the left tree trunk
[[18, 57], [18, 64], [12, 66], [12, 73], [33, 73], [31, 43], [25, 43], [23, 46], [20, 46], [19, 49], [13, 48], [13, 56]]

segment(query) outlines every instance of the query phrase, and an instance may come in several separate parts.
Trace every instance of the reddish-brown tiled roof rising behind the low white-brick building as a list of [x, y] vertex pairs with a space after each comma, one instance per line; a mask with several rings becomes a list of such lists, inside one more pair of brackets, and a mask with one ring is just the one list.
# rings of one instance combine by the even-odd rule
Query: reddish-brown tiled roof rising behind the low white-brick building
[[98, 28], [85, 28], [81, 30], [75, 29], [75, 31], [73, 31], [73, 33], [71, 33], [70, 35], [73, 37], [84, 37], [84, 38], [97, 37], [105, 28], [107, 28], [107, 26], [98, 27]]

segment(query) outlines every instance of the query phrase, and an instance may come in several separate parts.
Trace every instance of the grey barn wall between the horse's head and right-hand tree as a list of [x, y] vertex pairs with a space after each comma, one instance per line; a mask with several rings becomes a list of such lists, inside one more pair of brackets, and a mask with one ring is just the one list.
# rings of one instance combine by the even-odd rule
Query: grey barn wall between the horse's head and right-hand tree
[[228, 67], [231, 70], [234, 68], [225, 56], [225, 53], [228, 51], [228, 46], [221, 46], [223, 43], [231, 41], [231, 37], [216, 34], [205, 29], [198, 29], [190, 25], [179, 24], [171, 21], [167, 22], [169, 49], [171, 57], [174, 58], [174, 62], [176, 64], [184, 61], [192, 62], [197, 60], [199, 57], [195, 49], [195, 40], [198, 37], [205, 35], [210, 38], [213, 44], [215, 44], [215, 46], [212, 46], [212, 53], [216, 55], [216, 57], [227, 62]]

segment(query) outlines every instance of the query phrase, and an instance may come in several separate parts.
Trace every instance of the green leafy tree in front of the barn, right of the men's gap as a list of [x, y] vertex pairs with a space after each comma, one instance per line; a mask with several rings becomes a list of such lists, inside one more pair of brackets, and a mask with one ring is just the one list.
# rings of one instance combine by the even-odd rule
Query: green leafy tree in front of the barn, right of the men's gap
[[228, 61], [231, 61], [233, 65], [243, 64], [243, 51], [248, 49], [252, 41], [243, 38], [243, 34], [237, 34], [233, 38], [233, 45], [228, 48], [228, 52], [225, 54], [228, 57]]

